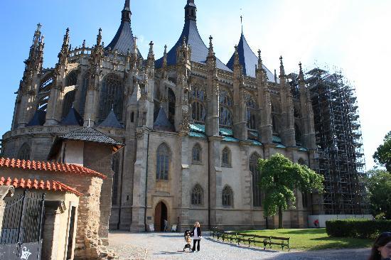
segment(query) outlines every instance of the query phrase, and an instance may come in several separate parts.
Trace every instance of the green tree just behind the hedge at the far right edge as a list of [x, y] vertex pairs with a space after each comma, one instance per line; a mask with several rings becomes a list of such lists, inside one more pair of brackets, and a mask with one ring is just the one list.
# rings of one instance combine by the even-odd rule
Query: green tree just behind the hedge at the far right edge
[[385, 170], [370, 170], [368, 192], [373, 215], [384, 214], [391, 220], [391, 174]]

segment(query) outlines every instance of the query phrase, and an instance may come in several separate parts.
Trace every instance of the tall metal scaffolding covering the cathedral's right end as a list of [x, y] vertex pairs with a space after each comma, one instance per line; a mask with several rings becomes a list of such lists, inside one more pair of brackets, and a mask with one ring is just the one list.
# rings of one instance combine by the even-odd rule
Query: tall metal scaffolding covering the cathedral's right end
[[341, 75], [315, 68], [306, 74], [314, 109], [318, 172], [325, 178], [325, 214], [368, 212], [365, 160], [355, 89]]

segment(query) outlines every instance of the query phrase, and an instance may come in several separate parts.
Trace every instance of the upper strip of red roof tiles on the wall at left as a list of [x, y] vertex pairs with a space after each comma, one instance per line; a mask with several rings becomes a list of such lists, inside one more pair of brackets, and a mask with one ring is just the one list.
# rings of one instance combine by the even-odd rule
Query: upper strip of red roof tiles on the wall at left
[[16, 168], [21, 170], [46, 170], [57, 173], [73, 173], [80, 175], [92, 175], [102, 179], [106, 179], [106, 175], [98, 173], [95, 170], [90, 170], [76, 164], [47, 162], [47, 161], [25, 161], [19, 159], [0, 158], [0, 168]]

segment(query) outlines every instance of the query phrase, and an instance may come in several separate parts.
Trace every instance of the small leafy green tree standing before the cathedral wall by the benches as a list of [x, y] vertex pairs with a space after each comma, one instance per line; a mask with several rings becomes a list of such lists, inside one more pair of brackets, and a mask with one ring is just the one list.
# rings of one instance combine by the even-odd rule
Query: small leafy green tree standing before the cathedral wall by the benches
[[[294, 190], [323, 193], [323, 176], [307, 166], [292, 163], [282, 154], [276, 153], [269, 159], [259, 159], [261, 178], [259, 185], [265, 193], [264, 217], [279, 215], [279, 228], [282, 227], [282, 212], [294, 205]], [[292, 206], [294, 207], [294, 206]]]

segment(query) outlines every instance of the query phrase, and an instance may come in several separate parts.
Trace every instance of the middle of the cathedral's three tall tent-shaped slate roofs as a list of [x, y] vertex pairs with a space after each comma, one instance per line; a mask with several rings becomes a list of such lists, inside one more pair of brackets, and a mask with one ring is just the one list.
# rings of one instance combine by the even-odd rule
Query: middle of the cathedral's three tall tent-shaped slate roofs
[[[195, 12], [195, 4], [193, 0], [188, 0], [188, 4], [185, 6], [186, 12], [188, 9], [193, 9]], [[185, 15], [185, 25], [183, 26], [183, 31], [181, 36], [179, 36], [176, 44], [171, 48], [171, 50], [167, 53], [167, 65], [175, 65], [176, 64], [176, 50], [183, 43], [183, 37], [186, 37], [186, 43], [191, 45], [191, 61], [195, 63], [206, 63], [206, 57], [208, 56], [208, 47], [206, 47], [205, 43], [200, 37], [200, 33], [198, 33], [196, 15], [194, 16]], [[155, 66], [161, 67], [163, 65], [163, 58], [156, 60]], [[231, 71], [230, 68], [225, 66], [219, 59], [216, 60], [216, 66], [218, 69]]]

